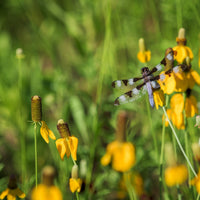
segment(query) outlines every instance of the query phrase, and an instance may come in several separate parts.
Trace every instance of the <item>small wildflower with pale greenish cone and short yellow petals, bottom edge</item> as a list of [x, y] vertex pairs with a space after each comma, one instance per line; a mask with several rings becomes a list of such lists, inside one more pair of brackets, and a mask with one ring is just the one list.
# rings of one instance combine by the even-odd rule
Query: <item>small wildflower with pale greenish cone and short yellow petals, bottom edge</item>
[[69, 179], [69, 188], [72, 193], [81, 191], [82, 180], [78, 178], [78, 165], [72, 167], [71, 178]]

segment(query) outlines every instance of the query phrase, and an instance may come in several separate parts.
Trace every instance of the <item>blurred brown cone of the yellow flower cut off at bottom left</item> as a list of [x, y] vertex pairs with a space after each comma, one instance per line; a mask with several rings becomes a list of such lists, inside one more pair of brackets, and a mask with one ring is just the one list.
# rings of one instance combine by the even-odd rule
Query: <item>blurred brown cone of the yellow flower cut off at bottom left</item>
[[51, 186], [55, 178], [55, 169], [52, 166], [46, 166], [42, 170], [42, 183]]

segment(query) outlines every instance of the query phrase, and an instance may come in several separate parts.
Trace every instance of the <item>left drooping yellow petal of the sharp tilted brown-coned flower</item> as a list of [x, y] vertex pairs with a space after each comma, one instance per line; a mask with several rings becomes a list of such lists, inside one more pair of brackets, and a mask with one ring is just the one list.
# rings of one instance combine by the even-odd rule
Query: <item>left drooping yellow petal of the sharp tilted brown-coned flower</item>
[[56, 140], [56, 147], [58, 149], [58, 153], [60, 154], [60, 158], [64, 160], [65, 154], [67, 157], [70, 156], [70, 151], [67, 145], [66, 138], [60, 138]]

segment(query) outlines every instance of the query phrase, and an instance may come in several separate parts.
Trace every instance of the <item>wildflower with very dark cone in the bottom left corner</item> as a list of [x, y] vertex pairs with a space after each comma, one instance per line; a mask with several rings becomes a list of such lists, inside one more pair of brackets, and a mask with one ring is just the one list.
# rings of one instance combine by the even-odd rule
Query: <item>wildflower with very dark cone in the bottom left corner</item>
[[10, 176], [8, 188], [0, 194], [0, 199], [7, 197], [7, 200], [15, 200], [16, 197], [21, 199], [25, 198], [26, 195], [17, 187], [16, 177]]

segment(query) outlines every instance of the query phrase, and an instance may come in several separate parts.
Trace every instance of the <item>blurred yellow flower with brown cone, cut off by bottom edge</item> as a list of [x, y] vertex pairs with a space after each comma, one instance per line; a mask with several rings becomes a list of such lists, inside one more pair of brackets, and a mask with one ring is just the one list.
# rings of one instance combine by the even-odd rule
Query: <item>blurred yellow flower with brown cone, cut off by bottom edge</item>
[[42, 171], [42, 183], [35, 187], [31, 194], [31, 200], [62, 200], [62, 193], [54, 185], [55, 169], [51, 166], [44, 167]]

